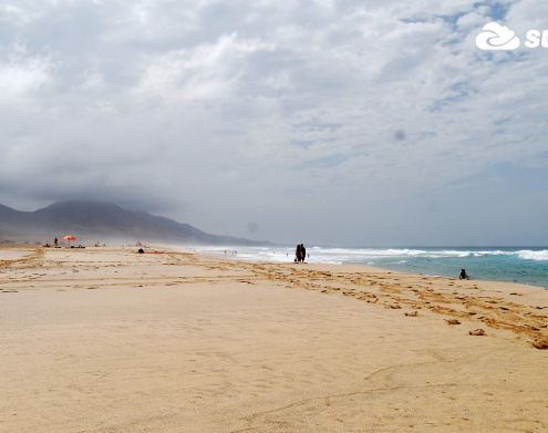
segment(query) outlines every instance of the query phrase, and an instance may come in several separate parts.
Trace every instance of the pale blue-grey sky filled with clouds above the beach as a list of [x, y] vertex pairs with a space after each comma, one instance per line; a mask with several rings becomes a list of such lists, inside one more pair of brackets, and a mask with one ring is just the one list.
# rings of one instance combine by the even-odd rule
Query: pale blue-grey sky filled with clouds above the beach
[[[519, 47], [478, 48], [490, 22]], [[548, 48], [525, 43], [544, 29], [545, 0], [0, 0], [0, 204], [546, 246]]]

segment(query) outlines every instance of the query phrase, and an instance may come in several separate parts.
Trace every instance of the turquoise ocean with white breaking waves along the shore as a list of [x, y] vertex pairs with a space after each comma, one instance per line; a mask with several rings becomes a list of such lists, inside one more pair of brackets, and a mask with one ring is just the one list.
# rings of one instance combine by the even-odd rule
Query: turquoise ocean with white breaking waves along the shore
[[[287, 262], [294, 246], [205, 247], [198, 250], [244, 260]], [[307, 246], [312, 264], [369, 265], [402, 272], [509, 281], [548, 288], [548, 247], [333, 248]]]

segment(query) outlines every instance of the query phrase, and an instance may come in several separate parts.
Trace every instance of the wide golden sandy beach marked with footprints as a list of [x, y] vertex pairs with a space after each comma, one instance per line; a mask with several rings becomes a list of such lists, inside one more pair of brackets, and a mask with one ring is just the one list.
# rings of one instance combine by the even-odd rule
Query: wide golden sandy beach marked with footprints
[[548, 431], [545, 288], [2, 247], [0, 290], [0, 432]]

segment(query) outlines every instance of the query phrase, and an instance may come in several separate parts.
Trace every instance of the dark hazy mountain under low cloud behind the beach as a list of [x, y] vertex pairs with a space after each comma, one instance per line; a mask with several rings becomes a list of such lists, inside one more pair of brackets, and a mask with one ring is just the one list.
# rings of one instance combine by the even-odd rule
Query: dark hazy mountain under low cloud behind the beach
[[[87, 241], [142, 241], [174, 245], [265, 245], [210, 235], [169, 218], [127, 210], [113, 203], [60, 202], [34, 212], [0, 205], [0, 240], [73, 235]], [[50, 240], [51, 241], [51, 240]]]

